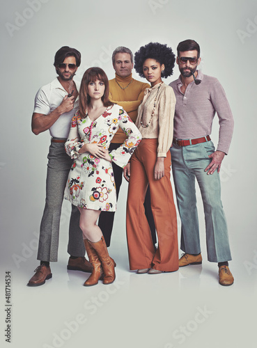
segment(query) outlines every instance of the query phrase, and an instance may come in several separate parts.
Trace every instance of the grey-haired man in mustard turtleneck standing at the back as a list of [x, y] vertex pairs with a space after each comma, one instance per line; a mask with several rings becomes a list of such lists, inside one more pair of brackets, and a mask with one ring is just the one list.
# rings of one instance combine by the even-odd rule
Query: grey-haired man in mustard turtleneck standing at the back
[[[109, 98], [111, 102], [114, 102], [127, 112], [133, 122], [137, 120], [137, 109], [143, 100], [144, 91], [146, 88], [150, 88], [149, 84], [137, 81], [132, 78], [133, 68], [133, 54], [127, 47], [117, 47], [112, 54], [112, 63], [116, 72], [115, 79], [109, 81]], [[111, 141], [109, 151], [118, 148], [124, 141], [126, 135], [118, 129], [114, 139]], [[116, 183], [116, 193], [118, 199], [118, 193], [120, 191], [120, 185], [123, 177], [123, 169], [116, 164], [112, 164], [114, 170], [114, 180]], [[145, 200], [146, 217], [152, 233], [153, 244], [156, 243], [155, 236], [155, 222], [153, 221], [153, 214], [150, 207], [150, 191], [148, 189]], [[104, 235], [107, 246], [111, 242], [111, 232], [114, 225], [114, 212], [101, 212], [99, 227]]]

